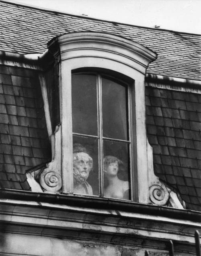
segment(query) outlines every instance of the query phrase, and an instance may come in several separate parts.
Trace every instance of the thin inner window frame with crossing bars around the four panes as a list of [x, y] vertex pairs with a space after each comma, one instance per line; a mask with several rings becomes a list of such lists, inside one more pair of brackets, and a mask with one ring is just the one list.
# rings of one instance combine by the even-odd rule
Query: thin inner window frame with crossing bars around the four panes
[[[125, 201], [133, 201], [134, 199], [134, 191], [133, 187], [136, 185], [133, 179], [133, 162], [135, 162], [135, 159], [133, 159], [133, 144], [132, 144], [132, 131], [131, 127], [132, 125], [132, 115], [131, 115], [131, 109], [132, 109], [132, 102], [131, 102], [131, 86], [134, 84], [134, 81], [132, 79], [129, 79], [123, 74], [119, 74], [116, 72], [111, 72], [110, 70], [102, 70], [102, 69], [96, 69], [95, 71], [92, 71], [93, 69], [79, 69], [79, 71], [74, 71], [72, 70], [72, 75], [96, 75], [96, 104], [97, 104], [97, 136], [94, 135], [87, 135], [87, 134], [82, 134], [82, 133], [74, 133], [72, 132], [72, 135], [74, 136], [80, 136], [80, 137], [90, 137], [90, 138], [96, 138], [98, 139], [98, 162], [99, 162], [99, 167], [100, 170], [98, 170], [98, 177], [100, 179], [99, 183], [99, 196], [96, 195], [90, 195], [90, 197], [98, 197], [98, 198], [107, 198], [104, 196], [104, 173], [103, 173], [103, 142], [104, 140], [106, 141], [113, 141], [113, 142], [125, 142], [129, 145], [129, 155], [128, 155], [128, 160], [129, 160], [129, 170], [128, 170], [128, 177], [130, 181], [130, 192], [129, 192], [129, 200], [126, 199], [119, 199], [115, 198], [116, 200], [125, 200]], [[113, 73], [113, 74], [111, 74]], [[118, 77], [122, 77], [123, 79], [120, 79]], [[107, 78], [110, 79], [111, 81], [115, 81], [116, 83], [119, 83], [120, 85], [123, 85], [126, 87], [126, 111], [127, 111], [127, 135], [128, 135], [128, 140], [123, 140], [123, 139], [115, 139], [115, 138], [110, 138], [110, 137], [104, 137], [103, 136], [103, 109], [102, 109], [102, 78]], [[72, 84], [73, 86], [73, 84]], [[77, 195], [76, 193], [73, 193]], [[79, 194], [81, 195], [81, 194]], [[89, 197], [89, 195], [82, 195]]]

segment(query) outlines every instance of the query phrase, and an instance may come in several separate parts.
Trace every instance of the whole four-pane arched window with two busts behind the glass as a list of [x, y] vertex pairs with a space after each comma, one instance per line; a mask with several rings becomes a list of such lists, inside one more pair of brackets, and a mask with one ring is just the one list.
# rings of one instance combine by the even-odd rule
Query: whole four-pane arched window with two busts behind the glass
[[126, 81], [104, 73], [72, 73], [75, 194], [131, 199], [129, 98]]

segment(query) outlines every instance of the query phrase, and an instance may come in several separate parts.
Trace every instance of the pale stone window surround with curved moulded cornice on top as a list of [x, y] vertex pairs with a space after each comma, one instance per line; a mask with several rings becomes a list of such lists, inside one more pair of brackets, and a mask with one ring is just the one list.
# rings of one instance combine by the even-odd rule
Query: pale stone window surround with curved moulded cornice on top
[[[148, 155], [145, 114], [145, 75], [156, 54], [123, 37], [98, 32], [75, 32], [53, 38], [49, 52], [59, 63], [62, 193], [73, 194], [73, 141], [71, 75], [76, 69], [106, 69], [132, 79], [131, 118], [134, 202], [149, 203]], [[68, 133], [66, 133], [68, 131]], [[133, 150], [135, 148], [135, 150]], [[67, 182], [68, 181], [68, 182]]]

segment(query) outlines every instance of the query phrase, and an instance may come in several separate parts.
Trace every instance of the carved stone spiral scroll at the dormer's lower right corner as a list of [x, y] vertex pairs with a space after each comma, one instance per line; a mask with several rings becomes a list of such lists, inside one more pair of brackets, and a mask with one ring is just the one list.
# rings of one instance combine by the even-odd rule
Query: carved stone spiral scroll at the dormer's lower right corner
[[164, 184], [154, 184], [150, 186], [150, 201], [153, 204], [165, 205], [169, 198], [169, 192]]

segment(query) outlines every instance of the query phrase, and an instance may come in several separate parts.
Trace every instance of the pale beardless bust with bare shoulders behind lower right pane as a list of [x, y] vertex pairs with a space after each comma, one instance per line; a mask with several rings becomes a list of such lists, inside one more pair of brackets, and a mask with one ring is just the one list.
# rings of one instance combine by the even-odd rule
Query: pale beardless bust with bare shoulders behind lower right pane
[[122, 181], [117, 176], [120, 164], [123, 162], [115, 156], [103, 158], [104, 177], [108, 180], [108, 186], [104, 191], [105, 197], [129, 199], [129, 182]]

